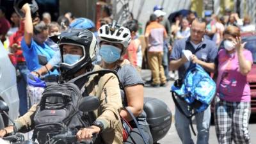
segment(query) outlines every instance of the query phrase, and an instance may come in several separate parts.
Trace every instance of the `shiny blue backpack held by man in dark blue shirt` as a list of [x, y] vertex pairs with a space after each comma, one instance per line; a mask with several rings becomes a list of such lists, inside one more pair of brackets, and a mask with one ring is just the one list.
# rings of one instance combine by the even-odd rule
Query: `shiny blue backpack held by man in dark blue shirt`
[[[179, 111], [191, 121], [192, 116], [196, 115], [196, 113], [205, 111], [205, 109], [207, 109], [211, 104], [216, 92], [216, 83], [212, 80], [209, 74], [205, 72], [204, 68], [198, 64], [191, 63], [184, 76], [184, 79], [178, 79], [175, 81], [175, 83], [172, 85], [171, 92], [173, 101], [175, 102], [175, 105]], [[180, 108], [176, 97], [184, 100], [188, 106], [194, 110], [194, 113], [191, 111], [190, 115], [186, 115], [183, 109]], [[195, 134], [193, 127], [191, 128]]]

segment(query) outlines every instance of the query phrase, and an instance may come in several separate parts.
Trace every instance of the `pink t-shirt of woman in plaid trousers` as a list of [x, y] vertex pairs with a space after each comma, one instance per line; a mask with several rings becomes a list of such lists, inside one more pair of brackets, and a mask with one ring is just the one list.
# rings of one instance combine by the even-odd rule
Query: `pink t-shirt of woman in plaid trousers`
[[[253, 63], [252, 53], [246, 49], [244, 58]], [[228, 102], [250, 102], [251, 90], [247, 76], [239, 72], [237, 53], [228, 54], [225, 49], [218, 53], [217, 95]]]

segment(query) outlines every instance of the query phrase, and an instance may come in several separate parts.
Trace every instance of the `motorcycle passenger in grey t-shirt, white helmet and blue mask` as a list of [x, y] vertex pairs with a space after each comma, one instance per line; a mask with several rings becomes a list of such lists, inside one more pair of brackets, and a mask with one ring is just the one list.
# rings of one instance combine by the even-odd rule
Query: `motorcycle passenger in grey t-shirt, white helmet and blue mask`
[[[113, 22], [111, 25], [101, 26], [98, 36], [99, 54], [102, 58], [100, 66], [116, 71], [124, 89], [123, 104], [136, 117], [143, 135], [147, 138], [148, 143], [152, 144], [152, 135], [146, 121], [146, 113], [143, 111], [143, 80], [136, 68], [128, 60], [124, 60], [124, 54], [131, 42], [131, 33], [129, 29], [115, 25]], [[124, 143], [144, 143], [140, 131], [128, 111], [122, 109], [120, 115], [132, 126], [132, 132]]]

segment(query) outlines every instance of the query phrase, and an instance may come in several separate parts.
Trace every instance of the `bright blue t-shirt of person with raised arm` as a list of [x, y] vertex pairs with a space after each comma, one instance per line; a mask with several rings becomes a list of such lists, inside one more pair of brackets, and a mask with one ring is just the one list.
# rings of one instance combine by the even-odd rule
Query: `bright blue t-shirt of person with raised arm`
[[[38, 61], [38, 55], [45, 56], [47, 58], [47, 61], [50, 61], [55, 52], [49, 47], [47, 44], [37, 44], [33, 38], [31, 38], [31, 44], [30, 47], [25, 42], [24, 37], [22, 38], [20, 42], [20, 46], [23, 51], [23, 56], [26, 59], [27, 67], [29, 71], [35, 71], [42, 67], [42, 65], [39, 64]], [[49, 74], [59, 74], [58, 71], [55, 69], [53, 72], [50, 70]]]

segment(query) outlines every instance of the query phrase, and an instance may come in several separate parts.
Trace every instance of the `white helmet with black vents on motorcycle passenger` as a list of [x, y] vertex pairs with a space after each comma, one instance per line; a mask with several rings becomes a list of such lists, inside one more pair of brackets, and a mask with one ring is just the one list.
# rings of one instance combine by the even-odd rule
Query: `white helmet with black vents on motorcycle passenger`
[[104, 24], [98, 30], [99, 44], [100, 42], [111, 42], [122, 44], [124, 49], [122, 54], [126, 51], [128, 45], [131, 42], [131, 33], [129, 29], [123, 26], [118, 26], [114, 20], [112, 24]]

